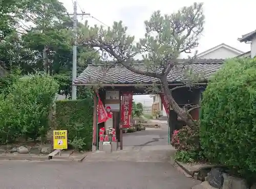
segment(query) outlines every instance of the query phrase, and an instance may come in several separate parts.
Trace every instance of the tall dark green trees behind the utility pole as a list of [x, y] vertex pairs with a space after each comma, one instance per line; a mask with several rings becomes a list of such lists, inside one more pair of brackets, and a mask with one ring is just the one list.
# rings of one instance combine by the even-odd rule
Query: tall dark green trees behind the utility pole
[[[45, 71], [59, 82], [59, 93], [68, 96], [73, 21], [64, 15], [66, 8], [58, 0], [2, 0], [0, 7], [0, 62], [11, 70], [18, 67], [22, 75]], [[84, 46], [78, 46], [77, 51], [79, 74], [98, 53]], [[86, 93], [79, 91], [79, 97]]]

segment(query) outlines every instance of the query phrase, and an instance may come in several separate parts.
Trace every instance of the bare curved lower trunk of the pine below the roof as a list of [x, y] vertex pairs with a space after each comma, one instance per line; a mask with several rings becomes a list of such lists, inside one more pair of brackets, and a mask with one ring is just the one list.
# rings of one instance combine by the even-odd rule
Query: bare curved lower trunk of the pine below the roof
[[188, 127], [195, 130], [196, 125], [195, 125], [195, 122], [192, 119], [192, 117], [186, 112], [186, 110], [182, 109], [174, 100], [174, 98], [172, 96], [172, 92], [170, 92], [170, 90], [169, 90], [169, 86], [168, 86], [166, 77], [162, 78], [161, 81], [163, 84], [164, 95], [167, 97], [170, 106], [178, 114], [178, 116], [181, 118], [181, 120], [187, 124]]

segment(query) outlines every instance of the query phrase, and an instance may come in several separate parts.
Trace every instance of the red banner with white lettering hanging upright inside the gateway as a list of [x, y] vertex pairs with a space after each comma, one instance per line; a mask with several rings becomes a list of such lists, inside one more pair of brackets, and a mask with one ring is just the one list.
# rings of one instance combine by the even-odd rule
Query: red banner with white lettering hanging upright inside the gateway
[[123, 123], [123, 128], [131, 127], [132, 108], [133, 108], [133, 92], [123, 92], [122, 106], [121, 106], [121, 122]]

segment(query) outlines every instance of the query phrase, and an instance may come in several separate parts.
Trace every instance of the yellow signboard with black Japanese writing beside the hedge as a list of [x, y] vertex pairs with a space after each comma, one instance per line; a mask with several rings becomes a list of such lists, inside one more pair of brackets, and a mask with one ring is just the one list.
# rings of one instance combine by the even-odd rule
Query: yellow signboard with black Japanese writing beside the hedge
[[53, 131], [53, 149], [68, 149], [68, 131]]

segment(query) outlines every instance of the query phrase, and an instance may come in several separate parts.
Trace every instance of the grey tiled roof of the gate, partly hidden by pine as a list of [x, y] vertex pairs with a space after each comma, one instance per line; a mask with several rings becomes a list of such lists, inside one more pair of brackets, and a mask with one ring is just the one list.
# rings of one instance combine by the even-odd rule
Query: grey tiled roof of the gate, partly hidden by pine
[[[179, 62], [185, 62], [185, 59], [180, 59]], [[210, 75], [215, 73], [224, 62], [223, 59], [197, 59], [190, 63], [188, 68], [192, 70], [192, 73], [203, 74], [204, 78], [201, 81], [205, 81]], [[167, 80], [169, 83], [182, 83], [186, 79], [183, 69], [180, 67], [174, 68], [168, 74]], [[131, 72], [123, 66], [116, 65], [104, 73], [104, 66], [101, 64], [89, 64], [88, 67], [75, 79], [74, 84], [137, 84], [137, 83], [160, 83], [157, 78], [148, 76], [142, 76]], [[134, 68], [146, 70], [146, 66], [142, 63], [134, 64]]]

